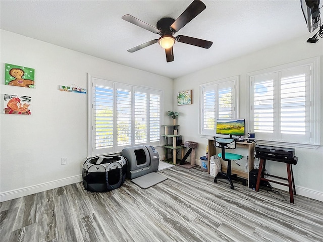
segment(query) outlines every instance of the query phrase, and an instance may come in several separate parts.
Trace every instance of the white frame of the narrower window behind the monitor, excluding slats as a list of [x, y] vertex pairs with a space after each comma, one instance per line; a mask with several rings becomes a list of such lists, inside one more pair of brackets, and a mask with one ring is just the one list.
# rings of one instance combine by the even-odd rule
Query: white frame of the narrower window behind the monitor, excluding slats
[[[212, 86], [218, 86], [220, 87], [221, 84], [223, 85], [232, 85], [233, 86], [233, 91], [232, 91], [232, 118], [240, 118], [239, 117], [239, 76], [233, 76], [233, 77], [228, 77], [228, 78], [224, 78], [224, 79], [219, 79], [216, 81], [212, 81], [212, 82], [208, 82], [208, 83], [203, 83], [200, 85], [200, 98], [199, 98], [199, 136], [202, 138], [213, 138], [214, 135], [216, 135], [217, 131], [216, 131], [216, 126], [214, 127], [213, 131], [210, 131], [209, 133], [204, 132], [204, 127], [203, 127], [203, 123], [204, 123], [204, 88], [206, 87], [212, 87]], [[219, 90], [220, 88], [214, 88], [213, 90], [217, 91], [217, 96], [219, 95]], [[215, 119], [219, 118], [219, 103], [217, 105], [217, 110], [216, 110], [216, 116], [214, 117]], [[216, 125], [216, 120], [215, 120], [215, 125]], [[213, 132], [213, 134], [210, 134], [211, 132]]]

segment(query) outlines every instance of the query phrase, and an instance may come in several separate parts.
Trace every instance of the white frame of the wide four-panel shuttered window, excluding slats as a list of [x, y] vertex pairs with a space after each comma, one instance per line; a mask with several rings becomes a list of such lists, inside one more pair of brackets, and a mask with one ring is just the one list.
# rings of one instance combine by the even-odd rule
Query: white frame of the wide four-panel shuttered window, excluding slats
[[[88, 143], [88, 157], [93, 157], [97, 155], [103, 155], [103, 154], [113, 154], [113, 153], [118, 153], [121, 152], [121, 150], [125, 147], [131, 147], [131, 146], [136, 146], [136, 145], [152, 145], [152, 146], [160, 146], [161, 145], [161, 124], [163, 124], [163, 90], [157, 90], [153, 89], [151, 87], [146, 87], [146, 86], [136, 86], [136, 85], [131, 85], [131, 84], [126, 84], [122, 82], [116, 82], [116, 81], [110, 81], [106, 80], [105, 78], [101, 77], [96, 77], [92, 76], [90, 74], [88, 76], [88, 110], [87, 110], [87, 116], [88, 116], [88, 137], [87, 137], [87, 143]], [[93, 112], [93, 107], [94, 107], [94, 80], [96, 82], [98, 81], [99, 84], [97, 86], [105, 86], [105, 87], [111, 87], [113, 89], [113, 147], [112, 148], [103, 148], [102, 152], [99, 152], [99, 149], [95, 149], [95, 131], [94, 131], [94, 112]], [[117, 141], [117, 89], [130, 89], [131, 90], [131, 129], [132, 129], [132, 135], [131, 135], [131, 142], [129, 145], [125, 146], [118, 146], [118, 141]], [[135, 92], [145, 92], [146, 93], [146, 102], [147, 102], [147, 130], [146, 130], [146, 137], [147, 137], [147, 142], [145, 143], [140, 143], [136, 144], [135, 143]], [[151, 95], [159, 95], [159, 140], [156, 142], [149, 142], [150, 138], [150, 128], [149, 128], [149, 102], [150, 102], [150, 96]]]

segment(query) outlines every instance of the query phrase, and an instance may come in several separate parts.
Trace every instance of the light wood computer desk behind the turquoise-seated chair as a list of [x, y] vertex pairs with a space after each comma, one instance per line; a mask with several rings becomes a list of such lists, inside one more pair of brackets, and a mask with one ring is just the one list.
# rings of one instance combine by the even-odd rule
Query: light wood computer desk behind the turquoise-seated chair
[[[214, 139], [208, 139], [207, 145], [208, 145], [208, 156], [207, 156], [207, 173], [210, 173], [210, 157], [216, 154], [221, 153], [221, 149], [217, 148], [214, 146]], [[248, 160], [248, 168], [247, 168], [247, 172], [244, 172], [242, 170], [237, 170], [237, 169], [232, 169], [232, 174], [237, 174], [240, 177], [246, 178], [248, 179], [248, 187], [249, 187], [249, 172], [250, 170], [252, 170], [254, 168], [254, 147], [255, 147], [255, 143], [248, 143], [246, 141], [244, 142], [237, 142], [237, 147], [242, 147], [245, 149], [248, 149], [248, 156], [249, 156], [249, 160]], [[218, 151], [217, 151], [218, 149]], [[222, 160], [222, 159], [220, 159]], [[223, 162], [221, 162], [221, 170], [222, 172], [227, 173], [227, 165], [223, 164]]]

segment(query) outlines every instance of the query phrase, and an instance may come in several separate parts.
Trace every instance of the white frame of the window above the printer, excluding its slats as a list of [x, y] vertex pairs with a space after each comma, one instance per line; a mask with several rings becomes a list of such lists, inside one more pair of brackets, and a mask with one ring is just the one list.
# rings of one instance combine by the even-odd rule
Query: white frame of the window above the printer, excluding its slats
[[[273, 75], [275, 77], [274, 79], [274, 85], [277, 83], [281, 83], [281, 74], [284, 72], [288, 72], [289, 70], [295, 69], [295, 68], [303, 68], [303, 67], [309, 67], [309, 97], [305, 96], [305, 98], [309, 98], [309, 105], [307, 107], [310, 108], [309, 110], [309, 122], [310, 122], [310, 128], [309, 128], [309, 135], [310, 140], [309, 142], [301, 142], [301, 141], [284, 141], [281, 139], [280, 134], [276, 134], [276, 137], [271, 136], [267, 137], [266, 139], [259, 139], [257, 138], [256, 134], [256, 141], [259, 144], [262, 145], [282, 145], [286, 147], [301, 147], [301, 148], [311, 148], [311, 149], [317, 149], [321, 144], [320, 140], [320, 57], [312, 57], [308, 59], [303, 59], [301, 61], [283, 64], [276, 67], [271, 67], [255, 72], [247, 73], [247, 89], [248, 89], [248, 129], [253, 132], [253, 123], [254, 123], [254, 116], [252, 116], [252, 108], [253, 108], [253, 90], [252, 88], [252, 81], [253, 78], [256, 76], [264, 76], [264, 75]], [[277, 79], [276, 79], [277, 78]], [[280, 89], [280, 88], [279, 88]], [[280, 91], [279, 91], [280, 92]], [[276, 103], [280, 103], [281, 97], [280, 95], [274, 94], [274, 102], [276, 100]], [[279, 112], [280, 107], [278, 107], [277, 113], [279, 113], [279, 116], [274, 118], [274, 125], [280, 126], [280, 118], [281, 114]], [[307, 113], [307, 111], [306, 111]], [[274, 132], [275, 133], [275, 132]], [[277, 132], [278, 133], [278, 132]], [[296, 137], [296, 136], [295, 136]]]

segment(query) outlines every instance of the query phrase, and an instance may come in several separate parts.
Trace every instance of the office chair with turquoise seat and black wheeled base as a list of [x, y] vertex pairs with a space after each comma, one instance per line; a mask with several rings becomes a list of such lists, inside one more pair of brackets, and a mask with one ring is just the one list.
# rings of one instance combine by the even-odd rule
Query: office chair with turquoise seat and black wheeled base
[[[241, 160], [243, 156], [239, 154], [228, 153], [225, 151], [225, 149], [235, 149], [237, 146], [236, 140], [233, 138], [220, 138], [216, 136], [213, 136], [213, 138], [215, 141], [214, 146], [221, 148], [221, 153], [218, 154], [218, 157], [228, 162], [227, 173], [219, 172], [217, 176], [214, 177], [214, 183], [217, 183], [217, 179], [224, 178], [229, 180], [231, 189], [234, 189], [232, 183], [233, 179], [237, 181], [242, 181], [242, 184], [246, 186], [247, 183], [245, 179], [237, 177], [237, 174], [231, 174], [231, 161]], [[239, 164], [237, 163], [237, 165]]]

